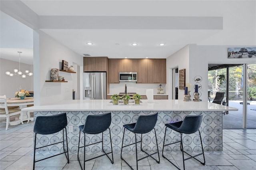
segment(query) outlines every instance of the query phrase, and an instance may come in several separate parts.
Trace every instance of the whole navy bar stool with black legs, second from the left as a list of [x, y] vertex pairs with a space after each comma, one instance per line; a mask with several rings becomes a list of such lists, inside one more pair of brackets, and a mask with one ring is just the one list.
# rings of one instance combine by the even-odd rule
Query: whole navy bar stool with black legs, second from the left
[[[104, 114], [101, 114], [101, 115], [88, 115], [86, 117], [84, 125], [79, 126], [80, 132], [79, 132], [77, 159], [78, 159], [78, 162], [79, 162], [81, 168], [82, 168], [82, 165], [81, 165], [80, 160], [79, 160], [79, 149], [80, 148], [84, 148], [84, 169], [85, 169], [85, 162], [86, 161], [89, 161], [89, 160], [92, 160], [92, 159], [95, 159], [95, 158], [98, 158], [98, 157], [104, 156], [104, 155], [108, 156], [108, 154], [110, 154], [110, 153], [112, 154], [112, 160], [109, 157], [108, 157], [108, 159], [110, 160], [110, 162], [112, 164], [114, 163], [113, 152], [112, 152], [112, 140], [111, 140], [111, 134], [110, 134], [110, 128], [109, 128], [110, 124], [111, 124], [111, 112], [108, 112], [108, 113], [104, 113]], [[109, 130], [110, 144], [111, 144], [111, 152], [108, 152], [108, 153], [106, 153], [105, 150], [103, 149], [103, 132], [107, 129]], [[80, 146], [81, 131], [84, 133], [84, 146]], [[100, 142], [96, 142], [96, 143], [92, 143], [92, 144], [102, 143], [102, 151], [104, 152], [104, 154], [102, 154], [100, 156], [96, 156], [96, 157], [88, 159], [88, 160], [85, 160], [85, 147], [92, 145], [92, 144], [85, 145], [85, 143], [86, 143], [85, 142], [85, 134], [86, 133], [87, 134], [102, 133], [102, 140]]]

